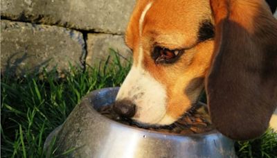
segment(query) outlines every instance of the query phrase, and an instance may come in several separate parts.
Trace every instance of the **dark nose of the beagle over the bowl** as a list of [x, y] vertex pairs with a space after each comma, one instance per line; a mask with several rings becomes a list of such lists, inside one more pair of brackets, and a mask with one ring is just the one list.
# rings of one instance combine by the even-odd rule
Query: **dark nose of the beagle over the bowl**
[[136, 105], [129, 100], [119, 100], [114, 104], [114, 112], [120, 116], [131, 118], [136, 113]]

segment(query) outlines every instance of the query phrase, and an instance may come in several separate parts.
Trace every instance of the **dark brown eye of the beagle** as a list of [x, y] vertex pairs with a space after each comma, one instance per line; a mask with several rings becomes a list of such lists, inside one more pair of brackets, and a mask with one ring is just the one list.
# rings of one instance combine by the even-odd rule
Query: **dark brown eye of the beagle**
[[156, 64], [166, 63], [170, 64], [175, 62], [177, 58], [181, 55], [183, 50], [170, 50], [166, 48], [162, 48], [160, 46], [156, 46], [154, 48], [154, 52], [152, 53], [152, 58], [154, 59]]

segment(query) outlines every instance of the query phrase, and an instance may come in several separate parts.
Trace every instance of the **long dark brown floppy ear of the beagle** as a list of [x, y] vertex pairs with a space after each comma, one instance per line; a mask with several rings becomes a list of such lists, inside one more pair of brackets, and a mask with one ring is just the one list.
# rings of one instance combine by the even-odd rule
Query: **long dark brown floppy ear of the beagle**
[[277, 105], [277, 21], [263, 0], [211, 0], [215, 49], [206, 93], [215, 128], [259, 137]]

